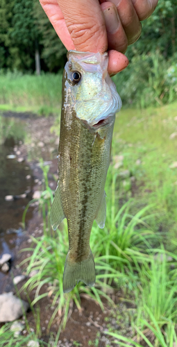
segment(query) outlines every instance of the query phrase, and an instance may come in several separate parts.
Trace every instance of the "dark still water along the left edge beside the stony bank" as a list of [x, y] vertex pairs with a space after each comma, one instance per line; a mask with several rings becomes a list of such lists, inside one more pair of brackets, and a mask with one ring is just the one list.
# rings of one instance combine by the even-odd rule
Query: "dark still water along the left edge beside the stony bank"
[[[23, 232], [21, 228], [22, 214], [27, 203], [32, 198], [34, 185], [33, 172], [25, 161], [18, 162], [14, 155], [14, 146], [24, 140], [25, 131], [22, 121], [0, 117], [0, 257], [3, 253], [14, 255], [15, 246], [20, 242]], [[31, 176], [26, 179], [26, 176]], [[25, 198], [19, 198], [25, 194]], [[6, 196], [13, 196], [12, 201], [6, 201]], [[27, 218], [31, 219], [33, 211]], [[16, 232], [15, 232], [16, 230]], [[3, 278], [0, 271], [0, 293]]]

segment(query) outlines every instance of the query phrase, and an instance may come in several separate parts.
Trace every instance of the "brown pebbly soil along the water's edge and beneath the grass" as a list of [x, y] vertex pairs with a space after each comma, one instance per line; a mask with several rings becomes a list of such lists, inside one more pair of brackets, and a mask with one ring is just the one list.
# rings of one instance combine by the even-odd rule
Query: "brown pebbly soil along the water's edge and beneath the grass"
[[[10, 112], [10, 115], [6, 113], [6, 117], [15, 117], [17, 119], [22, 119], [25, 121], [26, 131], [28, 133], [27, 143], [15, 144], [13, 147], [13, 152], [19, 153], [17, 158], [24, 158], [28, 167], [30, 167], [32, 176], [33, 176], [33, 185], [31, 186], [33, 194], [35, 191], [41, 190], [41, 185], [43, 184], [42, 180], [42, 170], [39, 167], [39, 162], [37, 158], [43, 158], [47, 164], [50, 165], [49, 170], [49, 185], [51, 189], [56, 187], [56, 178], [58, 175], [58, 165], [57, 165], [57, 151], [58, 151], [58, 137], [55, 134], [50, 133], [50, 128], [53, 126], [53, 117], [44, 118], [44, 117], [34, 117], [33, 115], [28, 114], [15, 114], [13, 115]], [[22, 211], [23, 212], [23, 211]], [[26, 225], [26, 229], [22, 232], [22, 235], [10, 235], [11, 244], [14, 244], [13, 248], [13, 257], [9, 273], [3, 277], [1, 282], [1, 291], [16, 292], [14, 285], [12, 284], [12, 277], [17, 276], [23, 273], [23, 266], [19, 267], [19, 264], [26, 259], [29, 255], [32, 254], [31, 251], [26, 251], [20, 253], [22, 249], [26, 247], [31, 247], [31, 238], [39, 237], [42, 235], [42, 217], [38, 213], [38, 206], [33, 205], [33, 208], [29, 208], [27, 215], [30, 215], [30, 220]], [[15, 226], [17, 227], [17, 226]], [[17, 285], [18, 291], [22, 288], [26, 280], [20, 282]], [[40, 294], [46, 292], [47, 287], [42, 287]], [[26, 292], [22, 291], [20, 296], [22, 299], [27, 300]], [[30, 301], [33, 301], [35, 296], [35, 290], [31, 291], [29, 294]], [[81, 297], [81, 312], [78, 311], [76, 305], [70, 307], [69, 319], [64, 331], [60, 333], [60, 338], [58, 346], [67, 347], [67, 346], [98, 346], [106, 347], [113, 346], [112, 338], [108, 338], [103, 331], [108, 330], [107, 325], [117, 330], [121, 330], [124, 326], [124, 332], [127, 336], [131, 335], [130, 323], [124, 323], [124, 315], [128, 310], [132, 310], [133, 307], [127, 307], [125, 303], [119, 300], [120, 293], [114, 295], [113, 300], [115, 301], [116, 309], [109, 307], [106, 301], [103, 301], [105, 309], [102, 312], [101, 307], [90, 298], [85, 296]], [[53, 323], [50, 328], [50, 333], [47, 332], [47, 325], [51, 318], [51, 314], [55, 307], [51, 306], [52, 298], [45, 297], [40, 300], [40, 327], [41, 327], [41, 337], [45, 342], [51, 341], [52, 336], [55, 339], [55, 336], [58, 332], [60, 326], [60, 316], [57, 314], [56, 319], [53, 320]], [[38, 307], [39, 307], [38, 306]], [[35, 305], [37, 308], [37, 304]], [[26, 314], [28, 324], [31, 330], [35, 330], [35, 317], [33, 311], [29, 311]], [[120, 316], [120, 325], [117, 325], [116, 316]], [[105, 320], [106, 319], [106, 320]], [[24, 332], [24, 335], [27, 332]], [[50, 337], [49, 337], [50, 335]], [[115, 346], [115, 344], [114, 344]]]

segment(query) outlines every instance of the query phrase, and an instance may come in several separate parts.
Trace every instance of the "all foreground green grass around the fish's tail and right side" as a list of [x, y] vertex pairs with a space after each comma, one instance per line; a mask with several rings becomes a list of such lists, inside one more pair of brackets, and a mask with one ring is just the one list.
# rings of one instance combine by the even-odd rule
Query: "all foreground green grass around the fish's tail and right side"
[[[143, 111], [122, 110], [116, 119], [112, 162], [106, 181], [106, 226], [101, 230], [94, 223], [90, 239], [96, 263], [94, 288], [79, 283], [71, 293], [62, 293], [67, 225], [62, 224], [56, 235], [51, 234], [46, 212], [50, 212], [53, 192], [47, 182], [49, 167], [43, 168], [45, 187], [40, 210], [44, 236], [33, 238], [35, 248], [26, 249], [33, 252], [26, 260], [27, 273], [37, 270], [26, 287], [36, 289], [32, 305], [42, 296], [51, 296], [55, 310], [48, 330], [57, 312], [60, 328], [65, 328], [73, 303], [78, 310], [81, 308], [81, 294], [94, 298], [103, 308], [101, 298], [105, 296], [111, 303], [110, 294], [114, 289], [121, 289], [124, 298], [133, 301], [136, 309], [133, 318], [127, 317], [132, 326], [131, 336], [112, 328], [107, 332], [117, 339], [115, 344], [172, 347], [176, 342], [177, 256], [173, 239], [177, 196], [176, 169], [170, 165], [175, 161], [177, 138], [169, 139], [175, 131], [174, 125], [177, 126], [176, 107], [174, 103]], [[116, 169], [117, 161], [119, 169]], [[128, 174], [121, 176], [125, 170]], [[172, 263], [168, 256], [173, 257]], [[47, 283], [47, 291], [40, 296], [40, 288]]]

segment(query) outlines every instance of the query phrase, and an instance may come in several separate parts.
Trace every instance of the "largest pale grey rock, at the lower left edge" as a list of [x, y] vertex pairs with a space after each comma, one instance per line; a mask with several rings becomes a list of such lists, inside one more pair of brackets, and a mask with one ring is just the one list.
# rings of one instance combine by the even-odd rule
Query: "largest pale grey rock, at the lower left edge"
[[[23, 310], [22, 310], [23, 306]], [[19, 319], [28, 310], [29, 304], [13, 296], [12, 291], [0, 295], [0, 322], [11, 322]]]

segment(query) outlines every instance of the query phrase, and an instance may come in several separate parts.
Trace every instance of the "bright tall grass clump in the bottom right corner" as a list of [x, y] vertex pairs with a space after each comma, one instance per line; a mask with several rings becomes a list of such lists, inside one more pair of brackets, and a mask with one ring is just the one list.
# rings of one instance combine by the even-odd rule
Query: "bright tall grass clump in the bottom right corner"
[[[157, 253], [155, 255], [155, 253]], [[136, 265], [140, 280], [135, 290], [137, 319], [131, 322], [135, 334], [133, 339], [123, 337], [117, 332], [106, 332], [115, 337], [119, 346], [174, 347], [177, 341], [177, 278], [171, 270], [176, 269], [176, 255], [162, 248], [153, 250], [149, 263]], [[142, 345], [143, 343], [143, 345]]]

